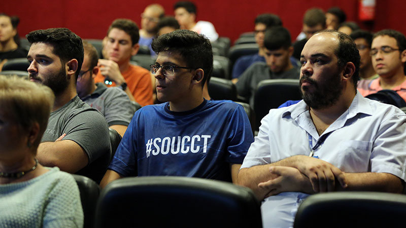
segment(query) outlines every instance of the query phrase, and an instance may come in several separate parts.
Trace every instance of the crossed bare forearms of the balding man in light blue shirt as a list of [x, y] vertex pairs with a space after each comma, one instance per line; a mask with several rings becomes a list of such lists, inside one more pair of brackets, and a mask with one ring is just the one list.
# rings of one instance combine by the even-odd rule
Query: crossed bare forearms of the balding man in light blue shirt
[[258, 199], [282, 192], [314, 194], [332, 191], [400, 193], [403, 181], [389, 173], [344, 173], [320, 159], [292, 156], [281, 161], [244, 168], [238, 183], [250, 187]]

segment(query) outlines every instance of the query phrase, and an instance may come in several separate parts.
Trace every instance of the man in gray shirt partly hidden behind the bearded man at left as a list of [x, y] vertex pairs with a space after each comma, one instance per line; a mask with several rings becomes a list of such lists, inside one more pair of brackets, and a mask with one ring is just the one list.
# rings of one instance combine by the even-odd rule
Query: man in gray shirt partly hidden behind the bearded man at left
[[82, 101], [100, 111], [105, 116], [109, 127], [123, 136], [136, 107], [122, 89], [108, 88], [104, 83], [94, 83], [94, 78], [99, 70], [97, 51], [86, 41], [83, 41], [83, 49], [85, 54], [82, 69], [76, 82], [78, 96]]

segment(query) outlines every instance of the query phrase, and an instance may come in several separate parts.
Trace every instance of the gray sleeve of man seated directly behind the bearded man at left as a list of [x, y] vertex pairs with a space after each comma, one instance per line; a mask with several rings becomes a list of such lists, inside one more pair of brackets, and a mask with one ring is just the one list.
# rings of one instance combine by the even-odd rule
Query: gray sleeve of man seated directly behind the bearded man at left
[[128, 126], [135, 110], [127, 94], [119, 88], [111, 88], [111, 93], [105, 99], [105, 117], [109, 127]]

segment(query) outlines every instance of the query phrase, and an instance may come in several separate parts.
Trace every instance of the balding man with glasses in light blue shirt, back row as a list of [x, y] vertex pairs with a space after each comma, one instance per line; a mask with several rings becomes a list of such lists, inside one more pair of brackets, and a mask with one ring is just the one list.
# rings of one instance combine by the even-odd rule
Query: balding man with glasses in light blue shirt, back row
[[140, 46], [147, 46], [152, 56], [155, 52], [152, 51], [152, 39], [158, 32], [158, 22], [165, 16], [165, 10], [159, 4], [152, 4], [145, 8], [144, 13], [141, 14], [141, 29], [140, 29]]

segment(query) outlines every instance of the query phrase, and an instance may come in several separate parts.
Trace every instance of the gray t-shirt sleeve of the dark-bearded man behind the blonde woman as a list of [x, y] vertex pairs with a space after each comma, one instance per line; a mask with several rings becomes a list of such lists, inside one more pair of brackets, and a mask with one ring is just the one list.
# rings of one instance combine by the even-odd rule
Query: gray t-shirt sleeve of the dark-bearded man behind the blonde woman
[[78, 143], [89, 157], [89, 164], [110, 149], [109, 127], [106, 119], [96, 109], [77, 109], [69, 118], [62, 140]]

